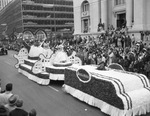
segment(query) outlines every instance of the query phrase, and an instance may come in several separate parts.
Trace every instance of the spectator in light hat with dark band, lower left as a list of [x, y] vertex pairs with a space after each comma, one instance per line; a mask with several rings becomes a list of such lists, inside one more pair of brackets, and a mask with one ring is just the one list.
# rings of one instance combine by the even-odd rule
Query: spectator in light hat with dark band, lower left
[[12, 110], [16, 108], [16, 103], [17, 103], [18, 98], [19, 98], [18, 95], [12, 95], [9, 98], [8, 104], [5, 105], [5, 107], [8, 108], [9, 112], [11, 112]]

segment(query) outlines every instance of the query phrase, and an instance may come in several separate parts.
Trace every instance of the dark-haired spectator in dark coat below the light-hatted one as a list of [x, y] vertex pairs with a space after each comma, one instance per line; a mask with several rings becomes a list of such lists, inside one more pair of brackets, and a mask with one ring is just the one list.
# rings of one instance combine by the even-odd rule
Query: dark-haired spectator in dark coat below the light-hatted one
[[16, 102], [16, 108], [10, 111], [9, 116], [28, 116], [28, 112], [22, 109], [23, 100], [18, 99]]

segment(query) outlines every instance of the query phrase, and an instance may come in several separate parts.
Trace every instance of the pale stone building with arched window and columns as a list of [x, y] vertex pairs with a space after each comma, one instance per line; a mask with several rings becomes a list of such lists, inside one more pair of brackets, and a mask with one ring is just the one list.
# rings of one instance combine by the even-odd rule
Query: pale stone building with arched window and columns
[[137, 40], [150, 41], [150, 0], [74, 0], [74, 35], [100, 34], [98, 24], [127, 26]]

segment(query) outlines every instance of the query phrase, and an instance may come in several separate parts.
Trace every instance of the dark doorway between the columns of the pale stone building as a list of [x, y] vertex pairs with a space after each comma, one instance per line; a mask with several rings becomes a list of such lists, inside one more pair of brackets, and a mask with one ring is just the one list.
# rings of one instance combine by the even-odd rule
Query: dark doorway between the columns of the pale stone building
[[126, 26], [126, 13], [117, 14], [117, 28]]

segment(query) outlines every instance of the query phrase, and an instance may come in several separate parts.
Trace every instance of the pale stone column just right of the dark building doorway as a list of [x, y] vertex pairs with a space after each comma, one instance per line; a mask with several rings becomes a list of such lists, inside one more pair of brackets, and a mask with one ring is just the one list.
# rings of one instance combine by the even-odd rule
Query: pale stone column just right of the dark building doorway
[[132, 26], [132, 0], [126, 0], [126, 26], [131, 28]]

